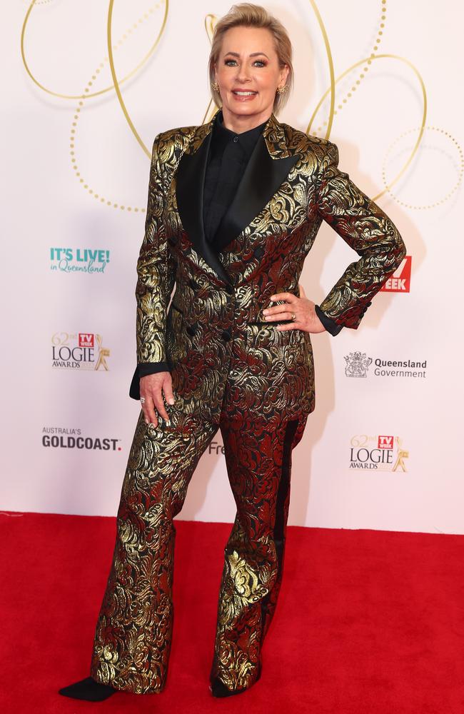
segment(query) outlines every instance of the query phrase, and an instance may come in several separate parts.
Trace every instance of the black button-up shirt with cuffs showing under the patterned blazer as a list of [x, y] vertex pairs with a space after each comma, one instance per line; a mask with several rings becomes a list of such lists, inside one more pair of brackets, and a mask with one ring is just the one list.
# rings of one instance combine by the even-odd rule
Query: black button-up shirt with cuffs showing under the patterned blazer
[[[253, 129], [237, 134], [236, 131], [231, 131], [224, 126], [222, 109], [216, 114], [203, 192], [203, 223], [205, 237], [209, 243], [214, 243], [214, 236], [221, 223], [221, 218], [235, 196], [251, 152], [266, 124], [267, 120]], [[326, 316], [318, 305], [315, 306], [315, 310], [326, 330], [332, 335], [338, 335], [342, 325], [337, 325], [335, 321]], [[138, 374], [141, 377], [161, 371], [169, 371], [168, 363], [145, 362], [138, 364]]]

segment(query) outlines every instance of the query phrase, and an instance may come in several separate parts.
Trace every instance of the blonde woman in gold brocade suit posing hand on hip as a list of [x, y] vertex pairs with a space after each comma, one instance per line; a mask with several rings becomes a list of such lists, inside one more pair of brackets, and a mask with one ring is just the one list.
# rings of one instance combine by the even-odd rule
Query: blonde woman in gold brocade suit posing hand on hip
[[[142, 411], [91, 676], [60, 690], [75, 698], [163, 690], [173, 518], [218, 428], [237, 514], [210, 689], [221, 697], [256, 683], [281, 587], [291, 452], [315, 406], [310, 334], [358, 328], [405, 256], [388, 216], [337, 168], [336, 145], [276, 119], [293, 81], [280, 22], [233, 6], [216, 25], [209, 69], [220, 111], [153, 144], [131, 385]], [[316, 306], [298, 278], [323, 220], [359, 259]]]

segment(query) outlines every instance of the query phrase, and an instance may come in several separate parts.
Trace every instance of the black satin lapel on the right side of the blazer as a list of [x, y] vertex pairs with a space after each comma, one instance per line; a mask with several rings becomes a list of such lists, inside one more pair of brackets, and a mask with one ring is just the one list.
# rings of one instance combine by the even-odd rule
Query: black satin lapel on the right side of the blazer
[[283, 159], [273, 159], [261, 134], [238, 184], [236, 195], [219, 224], [213, 241], [216, 250], [222, 250], [263, 210], [299, 158], [299, 154], [294, 154]]

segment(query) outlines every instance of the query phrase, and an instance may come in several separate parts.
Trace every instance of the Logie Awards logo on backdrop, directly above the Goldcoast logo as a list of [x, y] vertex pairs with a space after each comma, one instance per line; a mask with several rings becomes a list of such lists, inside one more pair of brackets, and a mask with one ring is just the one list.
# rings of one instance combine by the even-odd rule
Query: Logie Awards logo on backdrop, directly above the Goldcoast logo
[[101, 335], [91, 332], [56, 332], [51, 338], [51, 366], [54, 369], [109, 370], [111, 352]]

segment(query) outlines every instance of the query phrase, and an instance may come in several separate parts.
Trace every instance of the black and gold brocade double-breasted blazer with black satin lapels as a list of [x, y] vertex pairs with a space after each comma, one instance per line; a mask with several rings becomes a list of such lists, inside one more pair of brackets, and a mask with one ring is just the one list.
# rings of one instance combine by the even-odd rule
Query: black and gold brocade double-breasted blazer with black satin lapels
[[[217, 421], [234, 385], [233, 399], [256, 417], [271, 418], [277, 408], [307, 414], [315, 406], [310, 334], [267, 323], [270, 296], [299, 294], [303, 262], [327, 221], [358, 256], [320, 308], [356, 329], [403, 261], [405, 244], [338, 169], [336, 144], [271, 114], [211, 245], [203, 183], [212, 128], [213, 119], [163, 131], [153, 142], [137, 262], [137, 361], [168, 364], [176, 408], [185, 413]], [[138, 369], [130, 395], [140, 396]]]

